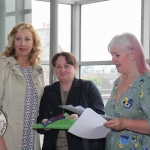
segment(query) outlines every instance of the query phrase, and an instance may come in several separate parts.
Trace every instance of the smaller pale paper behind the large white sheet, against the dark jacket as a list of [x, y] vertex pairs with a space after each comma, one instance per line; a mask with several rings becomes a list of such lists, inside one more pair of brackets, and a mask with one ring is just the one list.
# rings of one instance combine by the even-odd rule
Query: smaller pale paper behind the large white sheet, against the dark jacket
[[63, 106], [59, 105], [59, 107], [62, 107], [63, 109], [67, 109], [69, 111], [72, 111], [72, 112], [74, 112], [74, 113], [76, 113], [78, 115], [81, 115], [84, 112], [84, 110], [85, 110], [85, 108], [83, 108], [82, 106], [74, 107], [72, 105], [63, 105]]

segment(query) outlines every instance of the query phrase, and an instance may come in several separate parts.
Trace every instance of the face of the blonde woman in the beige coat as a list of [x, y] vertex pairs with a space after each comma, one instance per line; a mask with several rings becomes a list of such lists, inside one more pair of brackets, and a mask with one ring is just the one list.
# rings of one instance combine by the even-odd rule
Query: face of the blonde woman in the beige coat
[[18, 57], [28, 57], [33, 48], [32, 33], [28, 29], [18, 32], [14, 38], [14, 47]]

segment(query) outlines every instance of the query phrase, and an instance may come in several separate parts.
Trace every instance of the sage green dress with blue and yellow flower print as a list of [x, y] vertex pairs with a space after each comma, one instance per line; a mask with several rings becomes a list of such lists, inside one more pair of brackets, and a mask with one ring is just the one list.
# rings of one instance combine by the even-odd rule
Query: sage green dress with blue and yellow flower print
[[[150, 125], [150, 73], [138, 77], [120, 99], [115, 102], [120, 78], [115, 81], [106, 104], [107, 116], [147, 120]], [[111, 130], [107, 136], [106, 150], [150, 150], [150, 135], [129, 130]]]

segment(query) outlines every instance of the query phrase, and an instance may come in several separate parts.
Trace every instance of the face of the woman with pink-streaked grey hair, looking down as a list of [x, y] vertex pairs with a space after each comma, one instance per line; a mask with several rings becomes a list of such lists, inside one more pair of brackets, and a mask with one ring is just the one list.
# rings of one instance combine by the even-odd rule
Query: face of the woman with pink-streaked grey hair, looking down
[[135, 59], [134, 51], [126, 52], [119, 47], [115, 47], [110, 51], [112, 55], [112, 62], [116, 65], [117, 71], [122, 74], [128, 74], [133, 69], [132, 62]]

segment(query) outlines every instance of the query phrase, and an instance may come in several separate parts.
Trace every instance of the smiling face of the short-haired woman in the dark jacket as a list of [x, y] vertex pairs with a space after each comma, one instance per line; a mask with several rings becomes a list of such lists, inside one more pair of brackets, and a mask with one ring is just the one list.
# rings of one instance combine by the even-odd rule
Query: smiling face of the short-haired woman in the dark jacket
[[68, 64], [64, 56], [59, 56], [55, 62], [54, 71], [60, 82], [72, 82], [76, 69], [77, 66]]

